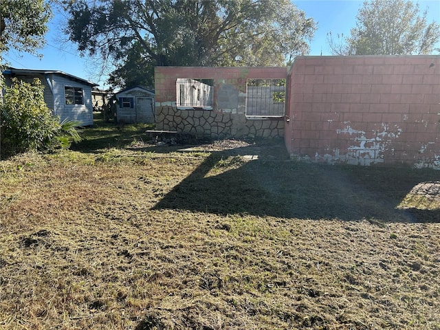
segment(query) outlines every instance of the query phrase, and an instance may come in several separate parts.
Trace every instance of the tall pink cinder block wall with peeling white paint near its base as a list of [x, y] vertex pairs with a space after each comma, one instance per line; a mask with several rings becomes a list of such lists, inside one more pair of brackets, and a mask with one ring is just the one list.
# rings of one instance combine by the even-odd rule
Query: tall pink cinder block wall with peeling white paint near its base
[[304, 56], [289, 74], [292, 157], [440, 168], [440, 56]]

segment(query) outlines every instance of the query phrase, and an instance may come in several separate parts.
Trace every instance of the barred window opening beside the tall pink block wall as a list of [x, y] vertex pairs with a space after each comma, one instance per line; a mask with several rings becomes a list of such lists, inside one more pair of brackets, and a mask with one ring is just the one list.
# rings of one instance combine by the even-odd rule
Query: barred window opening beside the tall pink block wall
[[248, 117], [283, 117], [285, 115], [285, 79], [248, 79], [246, 115]]

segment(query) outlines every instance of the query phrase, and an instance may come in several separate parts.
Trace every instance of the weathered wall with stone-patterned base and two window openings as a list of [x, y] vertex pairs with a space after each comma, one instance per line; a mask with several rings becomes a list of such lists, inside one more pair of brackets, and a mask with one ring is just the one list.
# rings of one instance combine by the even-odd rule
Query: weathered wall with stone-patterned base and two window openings
[[[283, 137], [284, 118], [245, 116], [248, 78], [286, 78], [285, 67], [156, 67], [156, 128], [199, 137]], [[212, 110], [177, 109], [177, 78], [212, 79]]]

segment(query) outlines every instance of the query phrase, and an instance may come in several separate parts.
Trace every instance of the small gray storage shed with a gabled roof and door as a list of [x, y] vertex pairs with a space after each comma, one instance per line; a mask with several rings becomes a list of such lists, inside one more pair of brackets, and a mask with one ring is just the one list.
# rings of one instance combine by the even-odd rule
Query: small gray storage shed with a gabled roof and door
[[118, 122], [146, 124], [155, 122], [154, 91], [143, 86], [133, 86], [115, 94]]

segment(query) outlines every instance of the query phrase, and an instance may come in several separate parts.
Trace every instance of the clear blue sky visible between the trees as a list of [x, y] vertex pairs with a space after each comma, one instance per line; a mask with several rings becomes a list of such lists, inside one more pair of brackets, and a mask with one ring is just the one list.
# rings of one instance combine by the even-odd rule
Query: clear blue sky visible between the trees
[[[232, 0], [233, 1], [233, 0]], [[349, 35], [355, 26], [356, 14], [362, 6], [362, 0], [292, 0], [297, 8], [303, 10], [307, 17], [318, 23], [318, 30], [311, 41], [309, 55], [331, 55], [327, 43], [327, 33], [333, 35]], [[440, 22], [440, 0], [415, 0], [419, 3], [420, 11], [428, 10], [428, 23]], [[9, 65], [18, 69], [47, 69], [58, 70], [89, 80], [107, 89], [106, 76], [100, 75], [98, 65], [90, 58], [81, 57], [73, 43], [63, 41], [61, 28], [66, 21], [65, 13], [55, 12], [50, 21], [49, 32], [46, 35], [47, 45], [39, 50], [43, 58], [17, 51], [3, 54]]]

